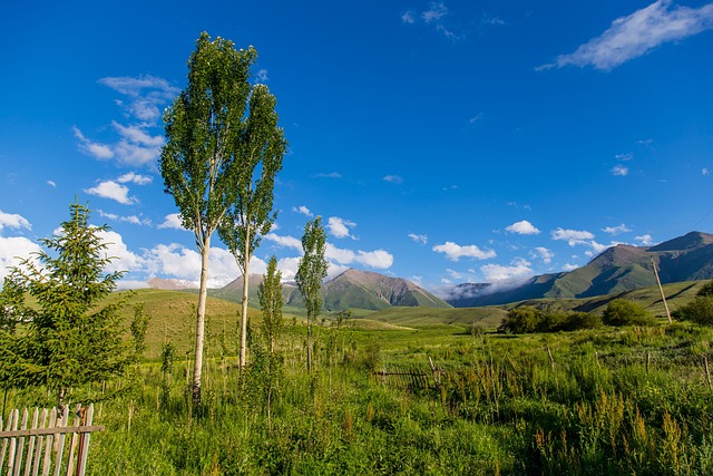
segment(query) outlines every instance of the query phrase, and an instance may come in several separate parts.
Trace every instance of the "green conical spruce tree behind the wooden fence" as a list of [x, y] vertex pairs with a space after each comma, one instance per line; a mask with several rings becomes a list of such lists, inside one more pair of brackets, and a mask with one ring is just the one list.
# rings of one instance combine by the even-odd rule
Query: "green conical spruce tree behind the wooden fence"
[[108, 227], [89, 225], [82, 205], [70, 205], [70, 213], [57, 235], [40, 240], [48, 251], [12, 268], [12, 284], [3, 290], [27, 328], [16, 339], [3, 337], [10, 348], [3, 346], [1, 373], [16, 386], [46, 386], [60, 405], [68, 388], [118, 376], [130, 361], [119, 314], [124, 300], [100, 305], [124, 274], [105, 274], [111, 259], [101, 232]]

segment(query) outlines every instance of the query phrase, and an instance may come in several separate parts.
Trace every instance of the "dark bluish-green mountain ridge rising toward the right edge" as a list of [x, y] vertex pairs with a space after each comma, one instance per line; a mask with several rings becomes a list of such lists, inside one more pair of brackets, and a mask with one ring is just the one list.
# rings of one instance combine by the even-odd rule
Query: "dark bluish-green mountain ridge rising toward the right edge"
[[541, 274], [508, 288], [466, 283], [446, 301], [456, 308], [559, 298], [582, 299], [621, 293], [656, 284], [652, 260], [663, 283], [713, 279], [713, 235], [691, 232], [656, 246], [612, 246], [587, 265], [570, 272]]

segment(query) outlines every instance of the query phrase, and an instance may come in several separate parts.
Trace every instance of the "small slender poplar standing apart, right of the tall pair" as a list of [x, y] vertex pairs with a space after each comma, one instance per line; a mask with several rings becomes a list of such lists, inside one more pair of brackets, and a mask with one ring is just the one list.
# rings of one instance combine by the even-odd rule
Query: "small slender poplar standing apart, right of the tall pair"
[[307, 310], [307, 372], [312, 371], [312, 321], [322, 310], [320, 291], [322, 281], [326, 276], [328, 262], [324, 259], [326, 249], [326, 233], [322, 227], [322, 217], [307, 221], [302, 235], [304, 255], [300, 260], [295, 281], [304, 298]]

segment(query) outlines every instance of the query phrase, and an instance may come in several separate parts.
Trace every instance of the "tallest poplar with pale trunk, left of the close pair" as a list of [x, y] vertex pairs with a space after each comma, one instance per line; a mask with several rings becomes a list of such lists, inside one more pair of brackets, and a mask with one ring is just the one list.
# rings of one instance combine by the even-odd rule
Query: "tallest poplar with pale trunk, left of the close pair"
[[201, 253], [196, 308], [193, 401], [201, 404], [205, 303], [211, 236], [228, 211], [234, 186], [235, 144], [245, 130], [250, 68], [257, 54], [236, 50], [202, 33], [188, 60], [188, 86], [166, 109], [166, 145], [160, 155], [165, 190], [178, 206], [183, 226], [195, 234]]

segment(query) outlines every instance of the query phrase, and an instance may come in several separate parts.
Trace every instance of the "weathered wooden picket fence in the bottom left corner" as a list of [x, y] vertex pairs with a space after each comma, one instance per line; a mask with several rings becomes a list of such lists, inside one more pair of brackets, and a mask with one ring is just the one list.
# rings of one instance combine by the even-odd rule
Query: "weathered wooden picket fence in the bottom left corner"
[[92, 431], [104, 430], [102, 426], [91, 425], [92, 417], [94, 405], [84, 408], [78, 405], [72, 426], [68, 426], [69, 407], [64, 411], [12, 410], [4, 425], [0, 420], [0, 475], [37, 476], [41, 470], [43, 476], [84, 476], [89, 437]]

